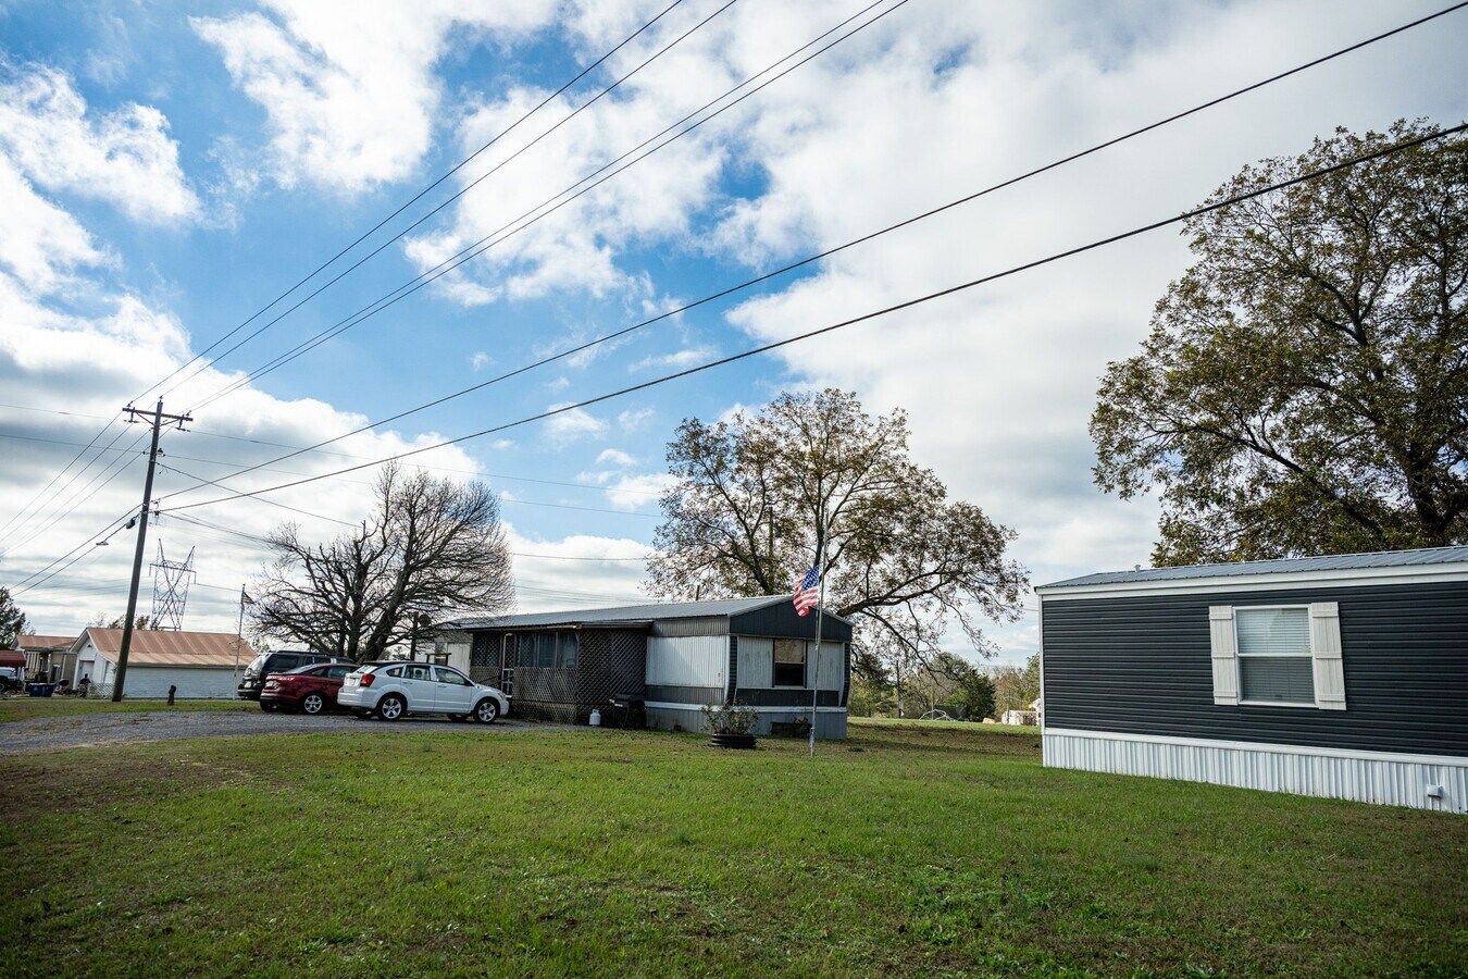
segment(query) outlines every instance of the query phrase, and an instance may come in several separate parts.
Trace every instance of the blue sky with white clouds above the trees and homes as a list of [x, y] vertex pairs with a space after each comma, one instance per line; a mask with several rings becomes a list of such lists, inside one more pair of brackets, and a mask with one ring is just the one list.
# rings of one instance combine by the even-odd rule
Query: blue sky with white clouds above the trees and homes
[[[245, 374], [868, 6], [738, 0], [719, 12], [724, 1], [677, 4], [368, 239], [388, 244], [377, 257], [241, 349], [216, 348], [197, 377], [167, 382], [166, 408], [195, 423], [166, 436], [156, 496], [211, 499], [189, 476], [258, 489], [505, 424], [1176, 214], [1242, 164], [1298, 153], [1337, 125], [1468, 114], [1468, 13], [1455, 13], [352, 436], [332, 446], [342, 455], [229, 480], [285, 451], [275, 445], [393, 415], [1445, 6], [884, 0], [853, 22], [891, 10], [872, 26], [688, 137], [319, 349]], [[65, 633], [122, 608], [131, 534], [92, 545], [141, 495], [139, 430], [104, 429], [119, 408], [668, 3], [0, 3], [0, 583], [32, 586], [18, 597], [34, 627]], [[906, 408], [918, 459], [1019, 531], [1014, 555], [1036, 583], [1145, 564], [1155, 503], [1091, 484], [1086, 417], [1107, 361], [1135, 349], [1186, 263], [1186, 242], [1161, 232], [414, 459], [502, 493], [523, 611], [636, 600], [675, 426], [819, 386], [856, 390], [872, 411]], [[84, 454], [47, 489], [98, 432], [98, 446], [134, 454], [101, 455], [70, 481], [92, 459]], [[351, 521], [370, 478], [269, 499]], [[260, 567], [258, 549], [229, 531], [283, 518], [308, 536], [339, 528], [266, 502], [186, 514], [164, 515], [148, 545], [150, 558], [159, 539], [170, 558], [197, 549], [186, 628], [232, 628], [235, 590]], [[85, 556], [28, 580], [73, 549]], [[1003, 659], [1022, 659], [1033, 616], [994, 638]]]

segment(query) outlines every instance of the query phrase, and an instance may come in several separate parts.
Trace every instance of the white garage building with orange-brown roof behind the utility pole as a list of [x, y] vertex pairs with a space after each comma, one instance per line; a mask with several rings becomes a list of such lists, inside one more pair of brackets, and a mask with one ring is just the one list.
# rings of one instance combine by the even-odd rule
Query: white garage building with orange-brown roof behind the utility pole
[[[76, 683], [90, 678], [95, 694], [112, 690], [117, 680], [120, 628], [87, 628], [72, 644]], [[232, 699], [238, 672], [255, 658], [248, 641], [233, 633], [173, 633], [134, 630], [128, 653], [125, 697]]]

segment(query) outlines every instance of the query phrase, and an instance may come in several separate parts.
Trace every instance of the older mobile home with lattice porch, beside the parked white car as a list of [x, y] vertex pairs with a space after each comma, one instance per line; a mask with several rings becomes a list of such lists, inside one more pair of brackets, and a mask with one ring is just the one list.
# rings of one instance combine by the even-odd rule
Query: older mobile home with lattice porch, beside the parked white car
[[756, 734], [809, 721], [816, 737], [844, 738], [851, 688], [851, 624], [802, 618], [788, 596], [665, 602], [464, 618], [439, 628], [449, 665], [511, 696], [517, 716], [586, 724], [609, 702], [640, 700], [658, 728], [703, 729], [703, 705], [759, 709]]

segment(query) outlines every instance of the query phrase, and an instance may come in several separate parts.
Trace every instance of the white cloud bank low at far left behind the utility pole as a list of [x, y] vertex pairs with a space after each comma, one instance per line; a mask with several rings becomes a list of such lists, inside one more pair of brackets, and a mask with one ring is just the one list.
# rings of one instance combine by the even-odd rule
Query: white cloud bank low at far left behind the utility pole
[[[9, 170], [0, 167], [0, 182]], [[12, 274], [0, 273], [0, 377], [7, 401], [31, 411], [7, 410], [0, 443], [6, 465], [0, 467], [0, 514], [18, 517], [0, 533], [0, 580], [12, 586], [16, 600], [44, 633], [66, 633], [94, 615], [119, 615], [126, 599], [131, 565], [131, 533], [120, 533], [109, 547], [92, 540], [137, 508], [147, 449], [145, 426], [119, 424], [119, 408], [137, 392], [173, 371], [189, 355], [188, 336], [176, 316], [128, 292], [109, 291], [103, 283], [78, 279], [87, 291], [85, 314], [65, 311], [43, 295], [40, 286], [54, 285], [56, 269], [84, 266], [95, 260], [95, 248], [78, 236], [79, 225], [56, 208], [40, 211], [51, 229], [66, 233], [54, 239], [31, 235], [29, 252], [16, 260], [10, 233], [16, 214], [35, 211], [31, 197], [19, 192], [23, 182], [3, 185], [16, 189], [10, 200], [22, 207], [4, 210], [6, 233], [0, 235], [0, 261], [29, 267], [32, 288], [22, 288]], [[7, 201], [9, 203], [9, 201]], [[29, 228], [29, 226], [26, 226]], [[38, 260], [25, 257], [40, 255]], [[40, 263], [41, 273], [35, 272]], [[46, 272], [50, 269], [53, 272]], [[46, 276], [53, 276], [47, 279]], [[192, 404], [204, 392], [222, 387], [230, 377], [206, 370], [169, 395], [166, 410]], [[282, 521], [301, 524], [302, 536], [324, 540], [341, 533], [341, 524], [283, 506], [355, 520], [371, 508], [373, 470], [269, 493], [258, 501], [233, 501], [188, 511], [173, 511], [186, 502], [226, 495], [200, 487], [191, 477], [219, 480], [236, 490], [276, 486], [301, 476], [341, 468], [339, 455], [310, 454], [245, 476], [238, 468], [269, 462], [283, 451], [273, 445], [313, 445], [323, 433], [348, 432], [366, 418], [335, 410], [320, 401], [283, 401], [252, 387], [198, 412], [188, 432], [166, 430], [156, 498], [163, 501], [163, 520], [150, 528], [148, 552], [163, 542], [170, 555], [197, 546], [200, 581], [189, 596], [185, 628], [233, 630], [239, 584], [260, 568], [264, 553], [257, 543], [230, 531], [264, 534]], [[112, 420], [106, 423], [106, 420]], [[104, 423], [107, 429], [103, 430]], [[100, 434], [98, 434], [100, 433]], [[115, 437], [116, 436], [116, 437]], [[53, 477], [92, 439], [84, 456], [95, 462], [75, 467], [47, 489]], [[251, 439], [252, 442], [244, 442]], [[393, 432], [363, 432], [332, 446], [364, 458], [383, 458], [436, 443], [440, 436]], [[477, 465], [457, 448], [440, 448], [413, 456], [408, 465], [446, 470], [465, 478]], [[73, 481], [72, 476], [78, 476]], [[188, 474], [188, 476], [185, 476]], [[32, 505], [32, 501], [37, 501]], [[72, 512], [66, 512], [70, 509]], [[172, 511], [172, 512], [170, 512]], [[217, 527], [200, 527], [184, 520], [197, 517]], [[31, 572], [57, 556], [79, 549], [82, 559], [37, 587], [25, 589]], [[34, 584], [34, 581], [32, 581]], [[19, 586], [19, 587], [15, 587]], [[25, 589], [25, 590], [22, 590]]]

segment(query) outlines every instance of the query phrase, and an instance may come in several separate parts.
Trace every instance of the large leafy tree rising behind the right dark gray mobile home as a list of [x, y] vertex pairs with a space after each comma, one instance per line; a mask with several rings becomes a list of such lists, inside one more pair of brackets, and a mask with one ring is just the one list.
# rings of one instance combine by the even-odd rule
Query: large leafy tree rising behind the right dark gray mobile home
[[[1427, 132], [1345, 131], [1210, 201]], [[1107, 367], [1097, 483], [1161, 492], [1158, 565], [1468, 540], [1468, 139], [1193, 217], [1196, 263]]]

